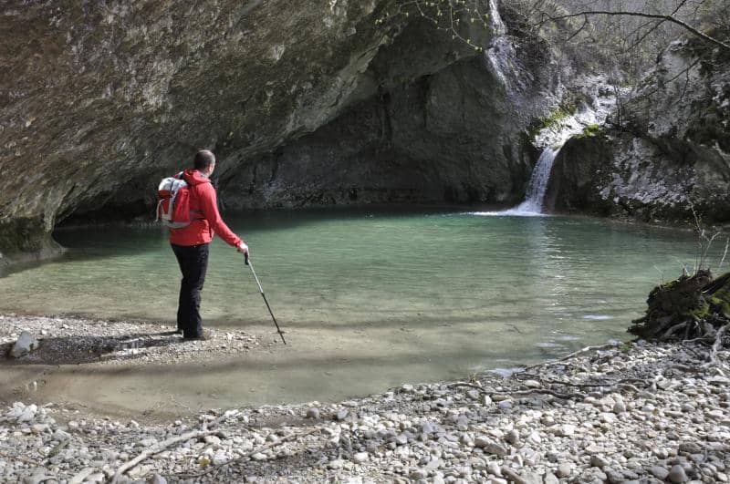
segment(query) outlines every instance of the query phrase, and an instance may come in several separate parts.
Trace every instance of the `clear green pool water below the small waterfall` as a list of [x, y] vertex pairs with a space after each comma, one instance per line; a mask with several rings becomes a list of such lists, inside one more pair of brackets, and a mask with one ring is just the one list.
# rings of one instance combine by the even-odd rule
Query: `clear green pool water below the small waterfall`
[[[669, 280], [681, 263], [694, 263], [691, 232], [589, 219], [392, 211], [227, 219], [249, 243], [290, 343], [270, 361], [255, 356], [250, 368], [254, 356], [209, 369], [221, 382], [250, 369], [279, 382], [249, 375], [240, 395], [223, 384], [211, 391], [236, 402], [370, 393], [628, 339], [662, 272]], [[105, 227], [56, 238], [70, 249], [62, 259], [0, 278], [0, 311], [172, 321], [180, 275], [163, 230]], [[220, 241], [203, 317], [274, 338], [253, 278]]]

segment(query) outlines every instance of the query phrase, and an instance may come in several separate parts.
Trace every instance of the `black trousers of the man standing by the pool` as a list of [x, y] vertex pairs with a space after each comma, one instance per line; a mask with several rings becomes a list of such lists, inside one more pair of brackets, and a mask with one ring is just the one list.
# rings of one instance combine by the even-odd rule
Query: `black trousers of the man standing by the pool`
[[208, 244], [172, 245], [183, 281], [180, 283], [180, 300], [177, 307], [177, 329], [183, 330], [183, 337], [194, 338], [203, 335], [203, 319], [200, 317], [200, 292], [208, 269]]

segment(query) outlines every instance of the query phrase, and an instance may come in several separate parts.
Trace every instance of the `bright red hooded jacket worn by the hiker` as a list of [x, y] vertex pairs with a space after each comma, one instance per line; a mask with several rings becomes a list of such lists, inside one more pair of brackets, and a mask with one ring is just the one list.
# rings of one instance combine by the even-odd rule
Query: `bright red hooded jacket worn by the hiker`
[[183, 178], [190, 185], [190, 210], [193, 221], [182, 229], [170, 229], [170, 242], [175, 245], [200, 245], [213, 240], [214, 233], [236, 247], [241, 239], [231, 232], [218, 212], [218, 199], [208, 177], [198, 170], [185, 170]]

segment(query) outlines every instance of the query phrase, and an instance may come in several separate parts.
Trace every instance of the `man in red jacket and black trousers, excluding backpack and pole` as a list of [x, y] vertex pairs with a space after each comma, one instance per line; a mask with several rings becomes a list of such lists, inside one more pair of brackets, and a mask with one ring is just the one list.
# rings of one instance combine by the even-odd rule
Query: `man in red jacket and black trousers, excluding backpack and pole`
[[208, 244], [218, 234], [238, 252], [248, 255], [248, 246], [231, 232], [218, 211], [218, 201], [210, 176], [215, 170], [215, 155], [203, 149], [195, 154], [193, 170], [184, 170], [190, 186], [190, 211], [193, 221], [182, 229], [170, 229], [172, 252], [180, 264], [183, 281], [177, 309], [177, 330], [185, 339], [205, 339], [200, 316], [200, 292], [208, 269]]

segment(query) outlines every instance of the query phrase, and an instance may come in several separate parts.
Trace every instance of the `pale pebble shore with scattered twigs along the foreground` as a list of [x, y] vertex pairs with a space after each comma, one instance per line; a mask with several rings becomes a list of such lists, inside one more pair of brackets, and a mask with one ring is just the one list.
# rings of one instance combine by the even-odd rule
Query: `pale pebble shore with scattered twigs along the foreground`
[[604, 345], [506, 378], [148, 423], [16, 403], [0, 412], [0, 476], [109, 481], [141, 456], [119, 482], [723, 482], [730, 352], [704, 352]]

